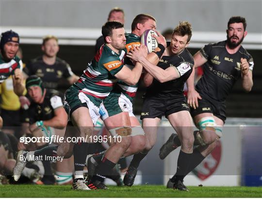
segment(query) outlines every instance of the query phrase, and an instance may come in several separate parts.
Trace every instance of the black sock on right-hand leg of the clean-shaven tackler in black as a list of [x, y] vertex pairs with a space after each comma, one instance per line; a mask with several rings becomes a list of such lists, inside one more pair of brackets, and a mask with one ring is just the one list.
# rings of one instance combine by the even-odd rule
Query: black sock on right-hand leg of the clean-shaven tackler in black
[[172, 183], [176, 183], [179, 180], [183, 181], [187, 174], [189, 164], [191, 163], [192, 153], [184, 153], [180, 150], [178, 157], [178, 167], [176, 174], [171, 178]]

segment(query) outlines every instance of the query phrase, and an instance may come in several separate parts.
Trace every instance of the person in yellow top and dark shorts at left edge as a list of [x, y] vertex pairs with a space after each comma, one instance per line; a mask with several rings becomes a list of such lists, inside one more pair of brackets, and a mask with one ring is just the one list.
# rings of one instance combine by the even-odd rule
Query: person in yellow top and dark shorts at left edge
[[[20, 59], [23, 58], [22, 49], [19, 47], [16, 56]], [[24, 68], [24, 64], [23, 64]], [[23, 82], [24, 83], [24, 82]], [[8, 77], [3, 83], [0, 84], [1, 97], [1, 117], [3, 118], [3, 132], [15, 134], [16, 138], [19, 138], [20, 131], [18, 126], [21, 126], [20, 122], [20, 102], [19, 97], [14, 92], [13, 79]], [[24, 90], [24, 93], [26, 90]], [[20, 96], [21, 97], [21, 96]]]

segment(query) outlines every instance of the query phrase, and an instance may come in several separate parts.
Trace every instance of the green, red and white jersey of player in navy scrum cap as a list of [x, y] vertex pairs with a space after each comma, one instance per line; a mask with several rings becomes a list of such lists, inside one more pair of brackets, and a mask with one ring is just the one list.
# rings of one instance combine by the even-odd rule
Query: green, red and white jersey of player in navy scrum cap
[[17, 56], [10, 61], [4, 61], [0, 54], [0, 83], [9, 76], [14, 75], [16, 68], [23, 70], [23, 62]]

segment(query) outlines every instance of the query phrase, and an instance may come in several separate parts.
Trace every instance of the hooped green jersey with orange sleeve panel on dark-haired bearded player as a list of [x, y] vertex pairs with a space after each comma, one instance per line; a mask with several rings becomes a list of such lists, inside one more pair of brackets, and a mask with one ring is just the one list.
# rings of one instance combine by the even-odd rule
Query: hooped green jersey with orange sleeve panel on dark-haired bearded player
[[124, 56], [124, 50], [117, 54], [108, 46], [102, 45], [73, 87], [97, 99], [104, 99], [113, 90], [117, 81], [115, 74], [124, 66]]

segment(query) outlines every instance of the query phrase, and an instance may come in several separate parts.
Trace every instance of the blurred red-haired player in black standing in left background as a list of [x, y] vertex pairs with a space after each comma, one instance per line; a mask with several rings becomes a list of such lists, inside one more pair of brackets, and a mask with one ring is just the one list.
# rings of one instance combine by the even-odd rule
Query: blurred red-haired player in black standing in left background
[[69, 84], [79, 79], [72, 72], [70, 65], [56, 56], [59, 51], [57, 37], [53, 35], [44, 37], [42, 51], [44, 53], [42, 56], [31, 60], [25, 67], [27, 77], [31, 75], [41, 77], [45, 88], [52, 90], [58, 89], [58, 81], [63, 77]]

